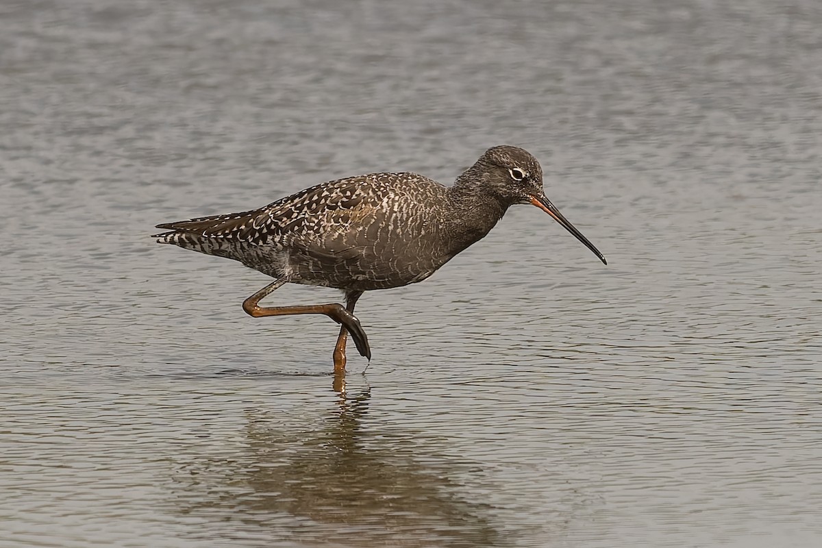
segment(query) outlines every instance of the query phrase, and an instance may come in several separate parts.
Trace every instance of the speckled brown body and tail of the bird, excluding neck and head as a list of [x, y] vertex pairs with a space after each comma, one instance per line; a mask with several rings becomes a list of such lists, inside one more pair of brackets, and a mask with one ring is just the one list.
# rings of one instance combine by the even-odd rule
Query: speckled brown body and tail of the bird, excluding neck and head
[[446, 194], [416, 173], [373, 173], [259, 210], [159, 224], [170, 232], [157, 237], [294, 283], [393, 288], [427, 278], [450, 259], [438, 233]]

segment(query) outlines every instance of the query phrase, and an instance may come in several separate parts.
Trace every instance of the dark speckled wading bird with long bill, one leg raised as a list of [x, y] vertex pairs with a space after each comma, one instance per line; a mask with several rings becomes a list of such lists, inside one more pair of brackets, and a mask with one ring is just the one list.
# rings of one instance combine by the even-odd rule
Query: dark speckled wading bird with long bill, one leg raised
[[[347, 334], [371, 360], [353, 315], [363, 292], [422, 282], [484, 237], [515, 204], [536, 205], [607, 264], [547, 199], [537, 159], [515, 146], [486, 150], [452, 187], [416, 173], [372, 173], [324, 182], [259, 210], [158, 224], [170, 232], [155, 237], [238, 260], [274, 278], [242, 303], [249, 315], [324, 314], [335, 320], [341, 327], [334, 368], [341, 373]], [[259, 306], [289, 282], [342, 289], [346, 306]]]

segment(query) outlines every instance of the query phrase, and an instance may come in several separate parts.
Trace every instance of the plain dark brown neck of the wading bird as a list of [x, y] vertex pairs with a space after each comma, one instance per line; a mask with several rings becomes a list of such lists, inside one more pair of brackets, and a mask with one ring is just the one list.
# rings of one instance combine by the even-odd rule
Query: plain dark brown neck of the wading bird
[[490, 232], [510, 205], [483, 188], [482, 183], [460, 179], [448, 189], [448, 202], [450, 215], [445, 228], [455, 254]]

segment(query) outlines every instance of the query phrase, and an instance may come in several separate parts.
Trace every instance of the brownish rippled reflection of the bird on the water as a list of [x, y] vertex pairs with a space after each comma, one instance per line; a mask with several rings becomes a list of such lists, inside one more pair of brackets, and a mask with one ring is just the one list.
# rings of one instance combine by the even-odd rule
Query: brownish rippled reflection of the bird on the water
[[370, 388], [339, 388], [333, 414], [311, 423], [247, 412], [247, 454], [196, 463], [187, 511], [217, 511], [267, 536], [266, 546], [504, 544], [489, 507], [460, 498], [449, 479], [465, 463], [431, 454], [431, 440], [413, 432], [367, 421]]

